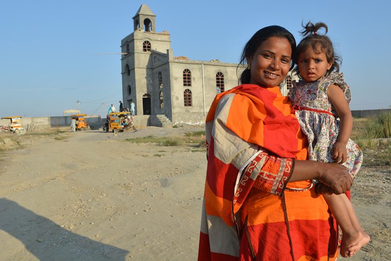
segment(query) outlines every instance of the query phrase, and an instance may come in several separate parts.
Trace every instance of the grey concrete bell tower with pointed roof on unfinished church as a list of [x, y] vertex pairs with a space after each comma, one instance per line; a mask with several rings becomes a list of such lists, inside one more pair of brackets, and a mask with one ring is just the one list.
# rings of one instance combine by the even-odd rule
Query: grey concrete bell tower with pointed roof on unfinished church
[[169, 77], [165, 62], [171, 41], [167, 31], [156, 32], [155, 17], [148, 5], [141, 5], [133, 16], [133, 32], [121, 41], [122, 100], [125, 107], [130, 107], [130, 100], [135, 103], [136, 115], [162, 114], [158, 74]]

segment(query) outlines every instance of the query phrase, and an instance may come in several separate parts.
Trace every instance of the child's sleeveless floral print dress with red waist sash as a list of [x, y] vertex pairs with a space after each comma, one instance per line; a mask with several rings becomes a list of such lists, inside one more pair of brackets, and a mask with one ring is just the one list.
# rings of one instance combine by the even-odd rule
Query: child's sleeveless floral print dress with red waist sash
[[[349, 104], [350, 90], [342, 73], [332, 72], [314, 82], [303, 80], [294, 82], [294, 86], [289, 92], [292, 109], [299, 120], [301, 131], [309, 141], [309, 158], [320, 162], [333, 162], [331, 150], [337, 141], [340, 130], [337, 112], [328, 100], [326, 93], [331, 84], [340, 86]], [[347, 142], [346, 147], [348, 159], [343, 165], [349, 169], [350, 175], [354, 178], [362, 164], [362, 152], [351, 139]]]

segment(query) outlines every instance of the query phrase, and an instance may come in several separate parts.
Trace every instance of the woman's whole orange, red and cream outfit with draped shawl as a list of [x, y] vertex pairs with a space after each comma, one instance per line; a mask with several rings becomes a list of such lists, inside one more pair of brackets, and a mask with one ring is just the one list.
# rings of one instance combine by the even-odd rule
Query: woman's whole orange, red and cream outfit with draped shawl
[[[218, 94], [206, 118], [206, 138], [208, 166], [198, 260], [252, 260], [251, 256], [270, 261], [282, 260], [278, 259], [281, 256], [284, 260], [292, 260], [289, 256], [295, 256], [295, 261], [327, 260], [324, 258], [328, 255], [328, 238], [331, 238], [332, 229], [323, 197], [319, 199], [310, 191], [299, 192], [302, 202], [319, 205], [317, 211], [323, 214], [311, 215], [306, 210], [300, 211], [297, 216], [294, 212], [289, 213], [292, 231], [287, 233], [281, 196], [289, 204], [297, 205], [292, 200], [292, 192], [284, 192], [284, 189], [293, 170], [294, 159], [306, 159], [307, 139], [291, 113], [290, 101], [281, 95], [280, 89], [277, 86], [263, 88], [242, 84]], [[308, 184], [310, 181], [294, 182], [289, 186], [304, 188]], [[254, 192], [253, 187], [259, 190]], [[297, 195], [297, 192], [293, 193]], [[275, 214], [274, 219], [249, 208], [248, 201], [259, 204], [259, 195], [266, 198], [261, 200], [260, 205], [275, 201], [270, 210]], [[265, 206], [263, 210], [267, 208], [270, 207]], [[305, 220], [306, 216], [311, 216], [312, 220]], [[291, 219], [296, 217], [304, 221], [292, 223]], [[310, 228], [305, 228], [306, 225]], [[313, 231], [319, 227], [323, 227], [320, 228], [322, 231]], [[274, 232], [270, 233], [269, 229]], [[267, 240], [268, 235], [271, 235], [270, 240]], [[302, 235], [310, 239], [324, 237], [325, 240], [317, 238], [315, 244], [319, 246], [315, 249], [289, 245]], [[280, 250], [276, 252], [280, 253], [274, 253], [275, 244], [280, 241], [284, 245], [278, 246]], [[274, 246], [265, 247], [265, 244]], [[332, 253], [335, 253], [334, 250]]]

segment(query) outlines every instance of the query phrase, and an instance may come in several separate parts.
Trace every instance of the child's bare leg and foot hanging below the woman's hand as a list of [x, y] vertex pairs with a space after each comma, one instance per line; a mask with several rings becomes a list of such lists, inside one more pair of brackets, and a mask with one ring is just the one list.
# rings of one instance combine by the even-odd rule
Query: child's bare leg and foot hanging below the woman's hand
[[345, 194], [324, 195], [324, 198], [342, 229], [341, 255], [353, 256], [370, 241], [370, 237], [362, 230], [353, 205]]

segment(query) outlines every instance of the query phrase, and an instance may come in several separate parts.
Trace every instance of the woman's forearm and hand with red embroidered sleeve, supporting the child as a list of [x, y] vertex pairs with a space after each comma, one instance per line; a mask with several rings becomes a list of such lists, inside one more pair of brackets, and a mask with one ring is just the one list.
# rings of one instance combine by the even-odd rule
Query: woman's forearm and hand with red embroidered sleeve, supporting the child
[[255, 144], [238, 151], [231, 163], [238, 169], [245, 166], [243, 175], [255, 180], [255, 187], [273, 195], [282, 195], [287, 183], [295, 181], [318, 179], [323, 186], [317, 186], [316, 191], [324, 194], [344, 193], [352, 184], [348, 169], [338, 163], [281, 158]]

